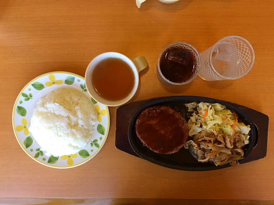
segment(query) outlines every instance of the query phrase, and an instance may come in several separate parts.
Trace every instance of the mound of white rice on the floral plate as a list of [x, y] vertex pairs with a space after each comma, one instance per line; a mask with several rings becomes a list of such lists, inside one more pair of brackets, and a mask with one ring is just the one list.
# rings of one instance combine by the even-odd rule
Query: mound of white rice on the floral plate
[[29, 131], [47, 155], [70, 155], [88, 144], [96, 122], [91, 101], [81, 91], [63, 87], [39, 100]]

